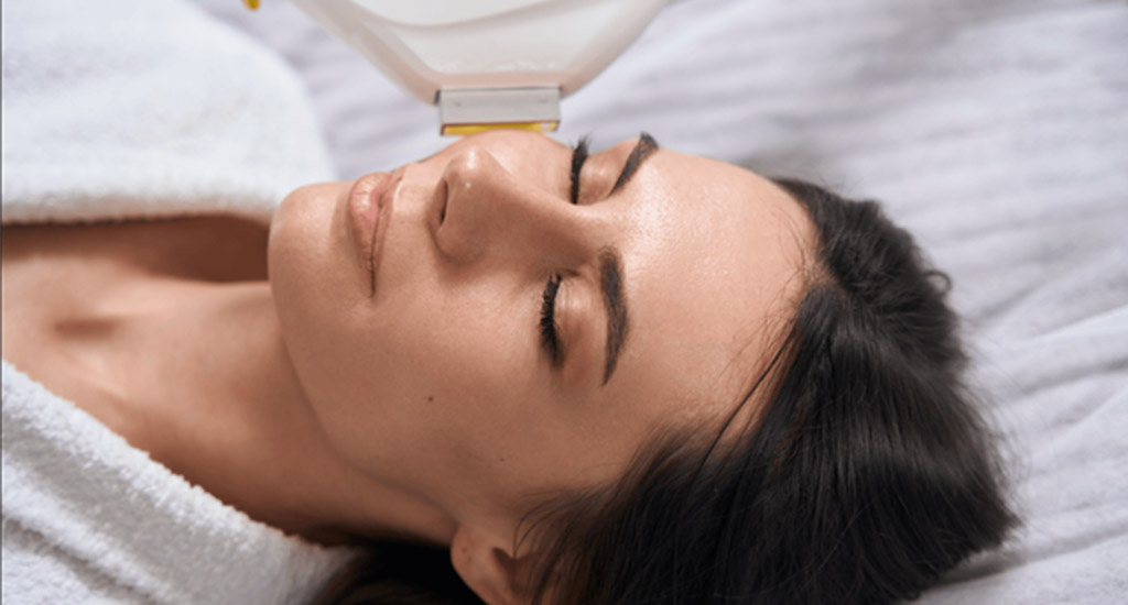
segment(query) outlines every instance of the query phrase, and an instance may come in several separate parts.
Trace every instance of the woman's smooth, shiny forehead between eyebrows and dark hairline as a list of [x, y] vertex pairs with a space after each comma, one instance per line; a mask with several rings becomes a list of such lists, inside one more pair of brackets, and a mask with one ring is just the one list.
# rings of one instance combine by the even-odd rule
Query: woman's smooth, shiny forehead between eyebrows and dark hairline
[[632, 331], [615, 381], [643, 395], [637, 415], [720, 421], [797, 303], [809, 220], [751, 171], [668, 150], [624, 197]]

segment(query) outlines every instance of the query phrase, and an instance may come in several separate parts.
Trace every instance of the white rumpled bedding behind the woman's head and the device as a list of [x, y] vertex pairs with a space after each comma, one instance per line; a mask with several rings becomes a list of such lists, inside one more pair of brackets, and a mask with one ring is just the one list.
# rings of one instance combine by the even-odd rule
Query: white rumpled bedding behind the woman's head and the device
[[[342, 176], [430, 153], [416, 105], [293, 7], [199, 0], [302, 74]], [[682, 0], [563, 104], [874, 197], [954, 279], [1024, 527], [922, 603], [1128, 594], [1128, 3]]]

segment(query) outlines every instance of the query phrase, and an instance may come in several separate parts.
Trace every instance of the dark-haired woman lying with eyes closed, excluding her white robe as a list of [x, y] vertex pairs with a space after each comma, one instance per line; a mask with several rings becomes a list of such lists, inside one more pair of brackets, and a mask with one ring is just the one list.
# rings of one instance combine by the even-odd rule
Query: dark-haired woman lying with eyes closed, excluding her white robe
[[[469, 137], [268, 234], [8, 228], [3, 278], [5, 358], [133, 446], [491, 604], [885, 603], [1012, 524], [909, 235], [646, 135]], [[323, 596], [412, 598], [370, 579]]]

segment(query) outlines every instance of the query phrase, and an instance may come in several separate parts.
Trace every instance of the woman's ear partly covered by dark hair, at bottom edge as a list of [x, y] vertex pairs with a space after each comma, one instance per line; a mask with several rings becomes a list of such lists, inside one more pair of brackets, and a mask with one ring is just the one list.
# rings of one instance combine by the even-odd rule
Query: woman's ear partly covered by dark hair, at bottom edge
[[527, 585], [532, 559], [529, 554], [514, 559], [512, 548], [512, 540], [459, 525], [450, 541], [450, 562], [466, 586], [488, 605], [525, 605], [532, 599], [532, 588]]

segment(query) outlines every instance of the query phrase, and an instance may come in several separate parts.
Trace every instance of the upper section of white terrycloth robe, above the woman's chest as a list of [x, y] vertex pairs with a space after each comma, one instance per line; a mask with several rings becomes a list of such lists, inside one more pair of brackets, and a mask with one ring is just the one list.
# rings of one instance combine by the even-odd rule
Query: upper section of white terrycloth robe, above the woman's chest
[[3, 2], [5, 222], [267, 219], [332, 177], [293, 71], [196, 7]]

